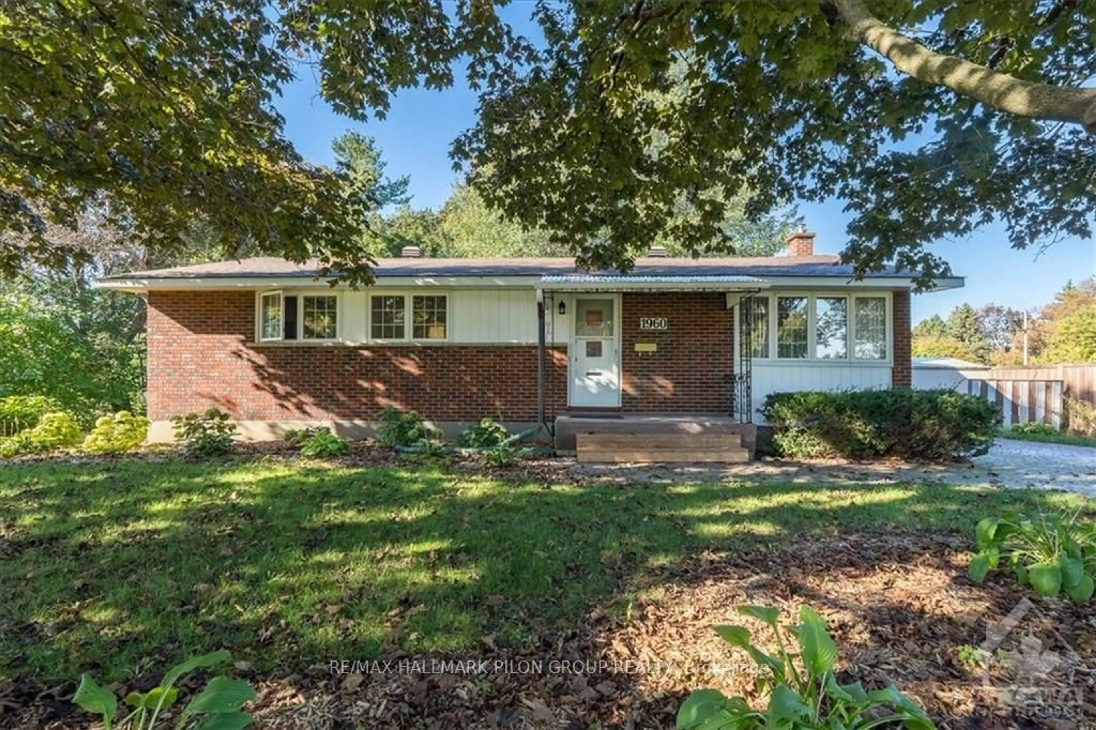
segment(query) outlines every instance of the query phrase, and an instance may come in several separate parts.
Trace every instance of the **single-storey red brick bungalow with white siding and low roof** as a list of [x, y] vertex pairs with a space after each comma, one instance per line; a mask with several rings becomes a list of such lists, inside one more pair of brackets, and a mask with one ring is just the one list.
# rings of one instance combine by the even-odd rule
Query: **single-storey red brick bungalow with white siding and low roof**
[[836, 256], [814, 255], [813, 238], [797, 232], [770, 258], [652, 250], [623, 275], [409, 247], [359, 290], [276, 258], [100, 286], [148, 303], [151, 441], [171, 438], [172, 415], [209, 406], [254, 438], [317, 423], [368, 432], [396, 406], [450, 434], [486, 415], [544, 425], [564, 450], [574, 424], [553, 426], [596, 417], [617, 432], [730, 423], [752, 446], [766, 393], [911, 385], [911, 276], [854, 281]]

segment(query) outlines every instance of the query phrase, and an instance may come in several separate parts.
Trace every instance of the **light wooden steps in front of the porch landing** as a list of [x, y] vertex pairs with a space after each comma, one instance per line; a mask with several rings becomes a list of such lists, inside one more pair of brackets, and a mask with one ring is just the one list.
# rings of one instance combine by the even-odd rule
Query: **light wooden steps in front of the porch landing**
[[587, 464], [673, 464], [750, 460], [739, 434], [575, 434], [579, 461]]

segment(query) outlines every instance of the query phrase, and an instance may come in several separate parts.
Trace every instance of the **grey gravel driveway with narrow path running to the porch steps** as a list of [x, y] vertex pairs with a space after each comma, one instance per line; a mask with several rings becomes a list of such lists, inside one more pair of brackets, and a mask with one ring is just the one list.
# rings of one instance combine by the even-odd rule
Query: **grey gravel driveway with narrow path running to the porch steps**
[[1096, 498], [1096, 448], [998, 438], [990, 453], [969, 464], [905, 461], [792, 461], [761, 459], [730, 466], [570, 464], [572, 472], [597, 480], [750, 481], [983, 484], [1012, 489], [1059, 489]]

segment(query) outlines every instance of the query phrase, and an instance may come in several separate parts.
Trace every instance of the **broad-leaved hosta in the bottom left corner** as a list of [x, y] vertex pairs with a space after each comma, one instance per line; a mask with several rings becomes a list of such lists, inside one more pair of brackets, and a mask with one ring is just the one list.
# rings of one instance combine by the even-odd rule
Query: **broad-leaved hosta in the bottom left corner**
[[[118, 699], [114, 693], [100, 687], [84, 674], [72, 702], [88, 712], [103, 719], [104, 730], [153, 730], [155, 728], [191, 728], [193, 730], [239, 730], [251, 723], [251, 716], [241, 708], [255, 697], [247, 683], [215, 676], [178, 712], [174, 722], [164, 722], [164, 715], [179, 699], [175, 683], [196, 669], [215, 666], [229, 659], [227, 651], [214, 651], [172, 668], [163, 675], [160, 685], [148, 692], [132, 692], [123, 700], [130, 709], [119, 717]], [[158, 725], [159, 723], [159, 725]]]

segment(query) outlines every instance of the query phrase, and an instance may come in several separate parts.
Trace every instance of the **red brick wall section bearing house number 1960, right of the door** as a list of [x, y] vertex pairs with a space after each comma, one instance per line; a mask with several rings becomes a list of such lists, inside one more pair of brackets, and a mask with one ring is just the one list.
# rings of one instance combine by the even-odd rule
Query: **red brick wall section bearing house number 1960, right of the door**
[[[726, 295], [625, 294], [621, 317], [623, 410], [728, 412], [733, 333]], [[665, 317], [670, 329], [641, 331], [642, 317]], [[636, 352], [638, 342], [658, 351]]]

